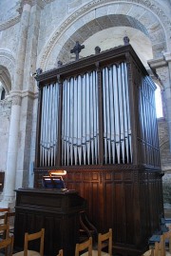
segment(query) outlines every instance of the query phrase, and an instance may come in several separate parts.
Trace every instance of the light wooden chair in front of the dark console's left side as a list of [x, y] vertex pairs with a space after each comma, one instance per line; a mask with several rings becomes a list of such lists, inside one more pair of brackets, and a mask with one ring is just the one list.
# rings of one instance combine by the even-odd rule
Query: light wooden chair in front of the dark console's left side
[[[28, 234], [25, 233], [25, 244], [24, 250], [20, 252], [16, 252], [14, 256], [44, 256], [44, 237], [45, 237], [45, 228], [42, 228], [41, 231]], [[28, 242], [40, 239], [40, 250], [39, 252], [35, 250], [28, 250]]]

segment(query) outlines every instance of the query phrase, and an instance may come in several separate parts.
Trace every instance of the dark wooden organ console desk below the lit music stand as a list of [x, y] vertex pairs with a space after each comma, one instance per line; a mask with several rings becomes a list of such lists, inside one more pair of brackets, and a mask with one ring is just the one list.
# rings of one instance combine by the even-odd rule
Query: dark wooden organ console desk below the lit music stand
[[[14, 248], [23, 249], [25, 232], [45, 228], [45, 255], [74, 256], [79, 242], [79, 212], [85, 209], [85, 200], [75, 190], [17, 189], [14, 225]], [[33, 249], [35, 245], [32, 245]]]

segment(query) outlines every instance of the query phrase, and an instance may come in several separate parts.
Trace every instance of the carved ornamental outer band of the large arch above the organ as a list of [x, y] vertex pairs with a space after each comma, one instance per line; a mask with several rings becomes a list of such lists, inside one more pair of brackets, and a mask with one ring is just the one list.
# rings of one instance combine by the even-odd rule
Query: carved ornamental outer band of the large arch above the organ
[[[50, 1], [51, 2], [51, 1]], [[72, 13], [70, 16], [66, 18], [66, 21], [61, 24], [61, 26], [54, 32], [53, 36], [50, 38], [50, 40], [47, 42], [47, 47], [42, 53], [41, 60], [39, 67], [42, 69], [45, 69], [48, 56], [51, 53], [51, 50], [53, 49], [53, 45], [56, 43], [56, 41], [61, 37], [61, 35], [64, 33], [65, 30], [70, 27], [70, 25], [77, 20], [79, 17], [83, 16], [84, 13], [97, 9], [99, 6], [107, 5], [107, 4], [114, 4], [118, 3], [118, 0], [93, 0], [85, 6], [82, 6], [79, 10], [76, 10], [74, 13]], [[122, 3], [123, 1], [120, 1], [119, 3]], [[163, 24], [163, 27], [165, 30], [167, 30], [168, 35], [171, 33], [169, 27], [171, 26], [171, 22], [168, 19], [168, 17], [165, 15], [165, 13], [156, 5], [153, 4], [150, 0], [124, 0], [124, 3], [130, 3], [130, 4], [137, 4], [142, 5], [143, 7], [147, 8], [150, 11], [153, 11], [156, 15], [159, 16], [161, 19], [161, 22]]]

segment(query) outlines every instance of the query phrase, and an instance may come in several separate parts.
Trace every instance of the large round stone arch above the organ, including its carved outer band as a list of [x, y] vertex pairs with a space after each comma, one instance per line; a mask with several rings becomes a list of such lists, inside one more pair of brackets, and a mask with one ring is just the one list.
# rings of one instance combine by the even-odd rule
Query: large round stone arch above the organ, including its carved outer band
[[[151, 1], [132, 0], [130, 2], [127, 0], [119, 3], [116, 0], [112, 2], [111, 0], [94, 0], [68, 16], [58, 30], [54, 31], [47, 42], [47, 46], [39, 55], [38, 67], [43, 70], [54, 68], [55, 60], [52, 57], [52, 55], [54, 56], [54, 54], [51, 54], [52, 51], [53, 53], [55, 52], [55, 57], [58, 57], [59, 54], [61, 55], [62, 52], [66, 54], [66, 47], [73, 46], [75, 43], [73, 39], [76, 35], [77, 41], [80, 39], [83, 41], [83, 37], [85, 39], [85, 34], [87, 33], [85, 32], [84, 34], [83, 29], [86, 29], [90, 35], [93, 31], [89, 26], [90, 24], [95, 25], [97, 19], [107, 21], [108, 27], [114, 26], [114, 24], [117, 24], [117, 20], [114, 21], [116, 15], [123, 15], [123, 26], [124, 22], [126, 22], [127, 26], [135, 28], [136, 23], [139, 30], [142, 28], [141, 30], [149, 36], [152, 42], [154, 57], [158, 57], [161, 51], [168, 49], [167, 37], [169, 38], [170, 34], [170, 21], [159, 7], [153, 5]], [[113, 19], [113, 24], [111, 18]], [[101, 24], [98, 30], [103, 30], [104, 24]], [[69, 49], [71, 48], [69, 47]]]

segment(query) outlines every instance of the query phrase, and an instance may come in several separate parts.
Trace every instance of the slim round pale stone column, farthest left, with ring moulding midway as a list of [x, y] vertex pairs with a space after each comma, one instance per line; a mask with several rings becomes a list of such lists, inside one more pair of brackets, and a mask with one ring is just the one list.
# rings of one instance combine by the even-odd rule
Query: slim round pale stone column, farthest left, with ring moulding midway
[[10, 118], [10, 137], [8, 148], [7, 170], [5, 173], [5, 187], [3, 201], [0, 203], [2, 207], [12, 207], [15, 199], [15, 182], [16, 168], [18, 156], [18, 137], [20, 126], [20, 111], [21, 111], [21, 90], [23, 89], [24, 64], [26, 56], [26, 47], [28, 39], [28, 25], [30, 4], [29, 1], [24, 1], [22, 9], [20, 30], [18, 34], [18, 48], [16, 54], [16, 69], [14, 75], [14, 84], [12, 85], [11, 98], [11, 118]]

